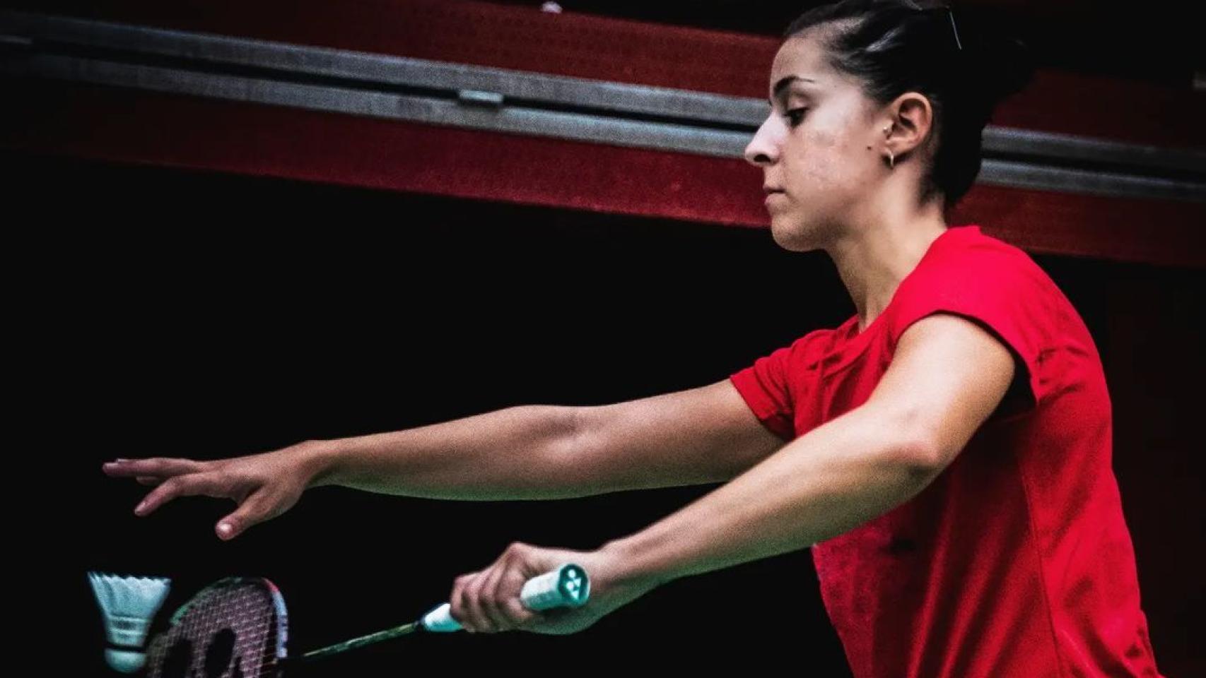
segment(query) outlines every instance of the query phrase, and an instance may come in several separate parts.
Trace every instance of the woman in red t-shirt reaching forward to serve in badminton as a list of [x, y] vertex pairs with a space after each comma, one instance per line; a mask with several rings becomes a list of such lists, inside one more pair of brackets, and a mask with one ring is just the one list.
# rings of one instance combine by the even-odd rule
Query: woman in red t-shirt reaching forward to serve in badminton
[[[675, 578], [814, 544], [855, 676], [1155, 676], [1093, 340], [1021, 250], [944, 217], [993, 107], [1029, 78], [1023, 57], [907, 0], [790, 26], [745, 155], [775, 242], [827, 252], [857, 314], [728, 379], [106, 472], [158, 485], [140, 515], [234, 499], [223, 538], [322, 484], [539, 499], [728, 481], [593, 552], [513, 544], [456, 579], [453, 617], [574, 632]], [[570, 560], [591, 602], [523, 609], [521, 584]]]

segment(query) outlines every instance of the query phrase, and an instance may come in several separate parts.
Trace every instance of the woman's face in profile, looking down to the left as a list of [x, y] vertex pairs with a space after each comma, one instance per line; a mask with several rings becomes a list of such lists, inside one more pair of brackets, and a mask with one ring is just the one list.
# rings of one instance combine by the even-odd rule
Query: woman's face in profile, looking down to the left
[[818, 249], [855, 223], [885, 172], [878, 108], [857, 81], [826, 65], [808, 33], [779, 48], [771, 66], [771, 113], [745, 159], [762, 167], [771, 232], [780, 247]]

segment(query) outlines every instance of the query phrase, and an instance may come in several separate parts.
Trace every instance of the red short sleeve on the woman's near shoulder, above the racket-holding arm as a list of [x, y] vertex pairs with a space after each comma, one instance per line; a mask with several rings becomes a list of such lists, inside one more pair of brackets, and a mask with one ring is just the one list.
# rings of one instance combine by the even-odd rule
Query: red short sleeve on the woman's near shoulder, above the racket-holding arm
[[1043, 396], [1040, 361], [1059, 311], [1059, 290], [1021, 250], [984, 246], [958, 255], [901, 285], [888, 324], [891, 350], [921, 318], [935, 313], [966, 318], [1013, 353], [1018, 371], [999, 414], [1030, 409]]

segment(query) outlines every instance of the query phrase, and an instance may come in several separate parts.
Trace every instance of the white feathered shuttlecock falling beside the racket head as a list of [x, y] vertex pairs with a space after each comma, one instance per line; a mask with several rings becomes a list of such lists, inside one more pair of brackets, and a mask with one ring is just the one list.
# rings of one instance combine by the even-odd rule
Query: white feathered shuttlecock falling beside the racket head
[[134, 673], [146, 662], [142, 644], [154, 613], [168, 597], [171, 580], [100, 572], [89, 572], [88, 580], [105, 617], [105, 637], [110, 644], [105, 648], [105, 661], [115, 671]]

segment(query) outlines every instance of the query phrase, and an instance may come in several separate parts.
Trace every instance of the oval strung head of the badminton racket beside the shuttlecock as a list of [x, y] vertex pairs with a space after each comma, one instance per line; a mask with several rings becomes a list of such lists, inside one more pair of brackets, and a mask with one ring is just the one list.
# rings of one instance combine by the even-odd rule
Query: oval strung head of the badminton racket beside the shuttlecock
[[228, 577], [171, 617], [147, 652], [147, 678], [268, 678], [285, 659], [288, 614], [268, 579]]

